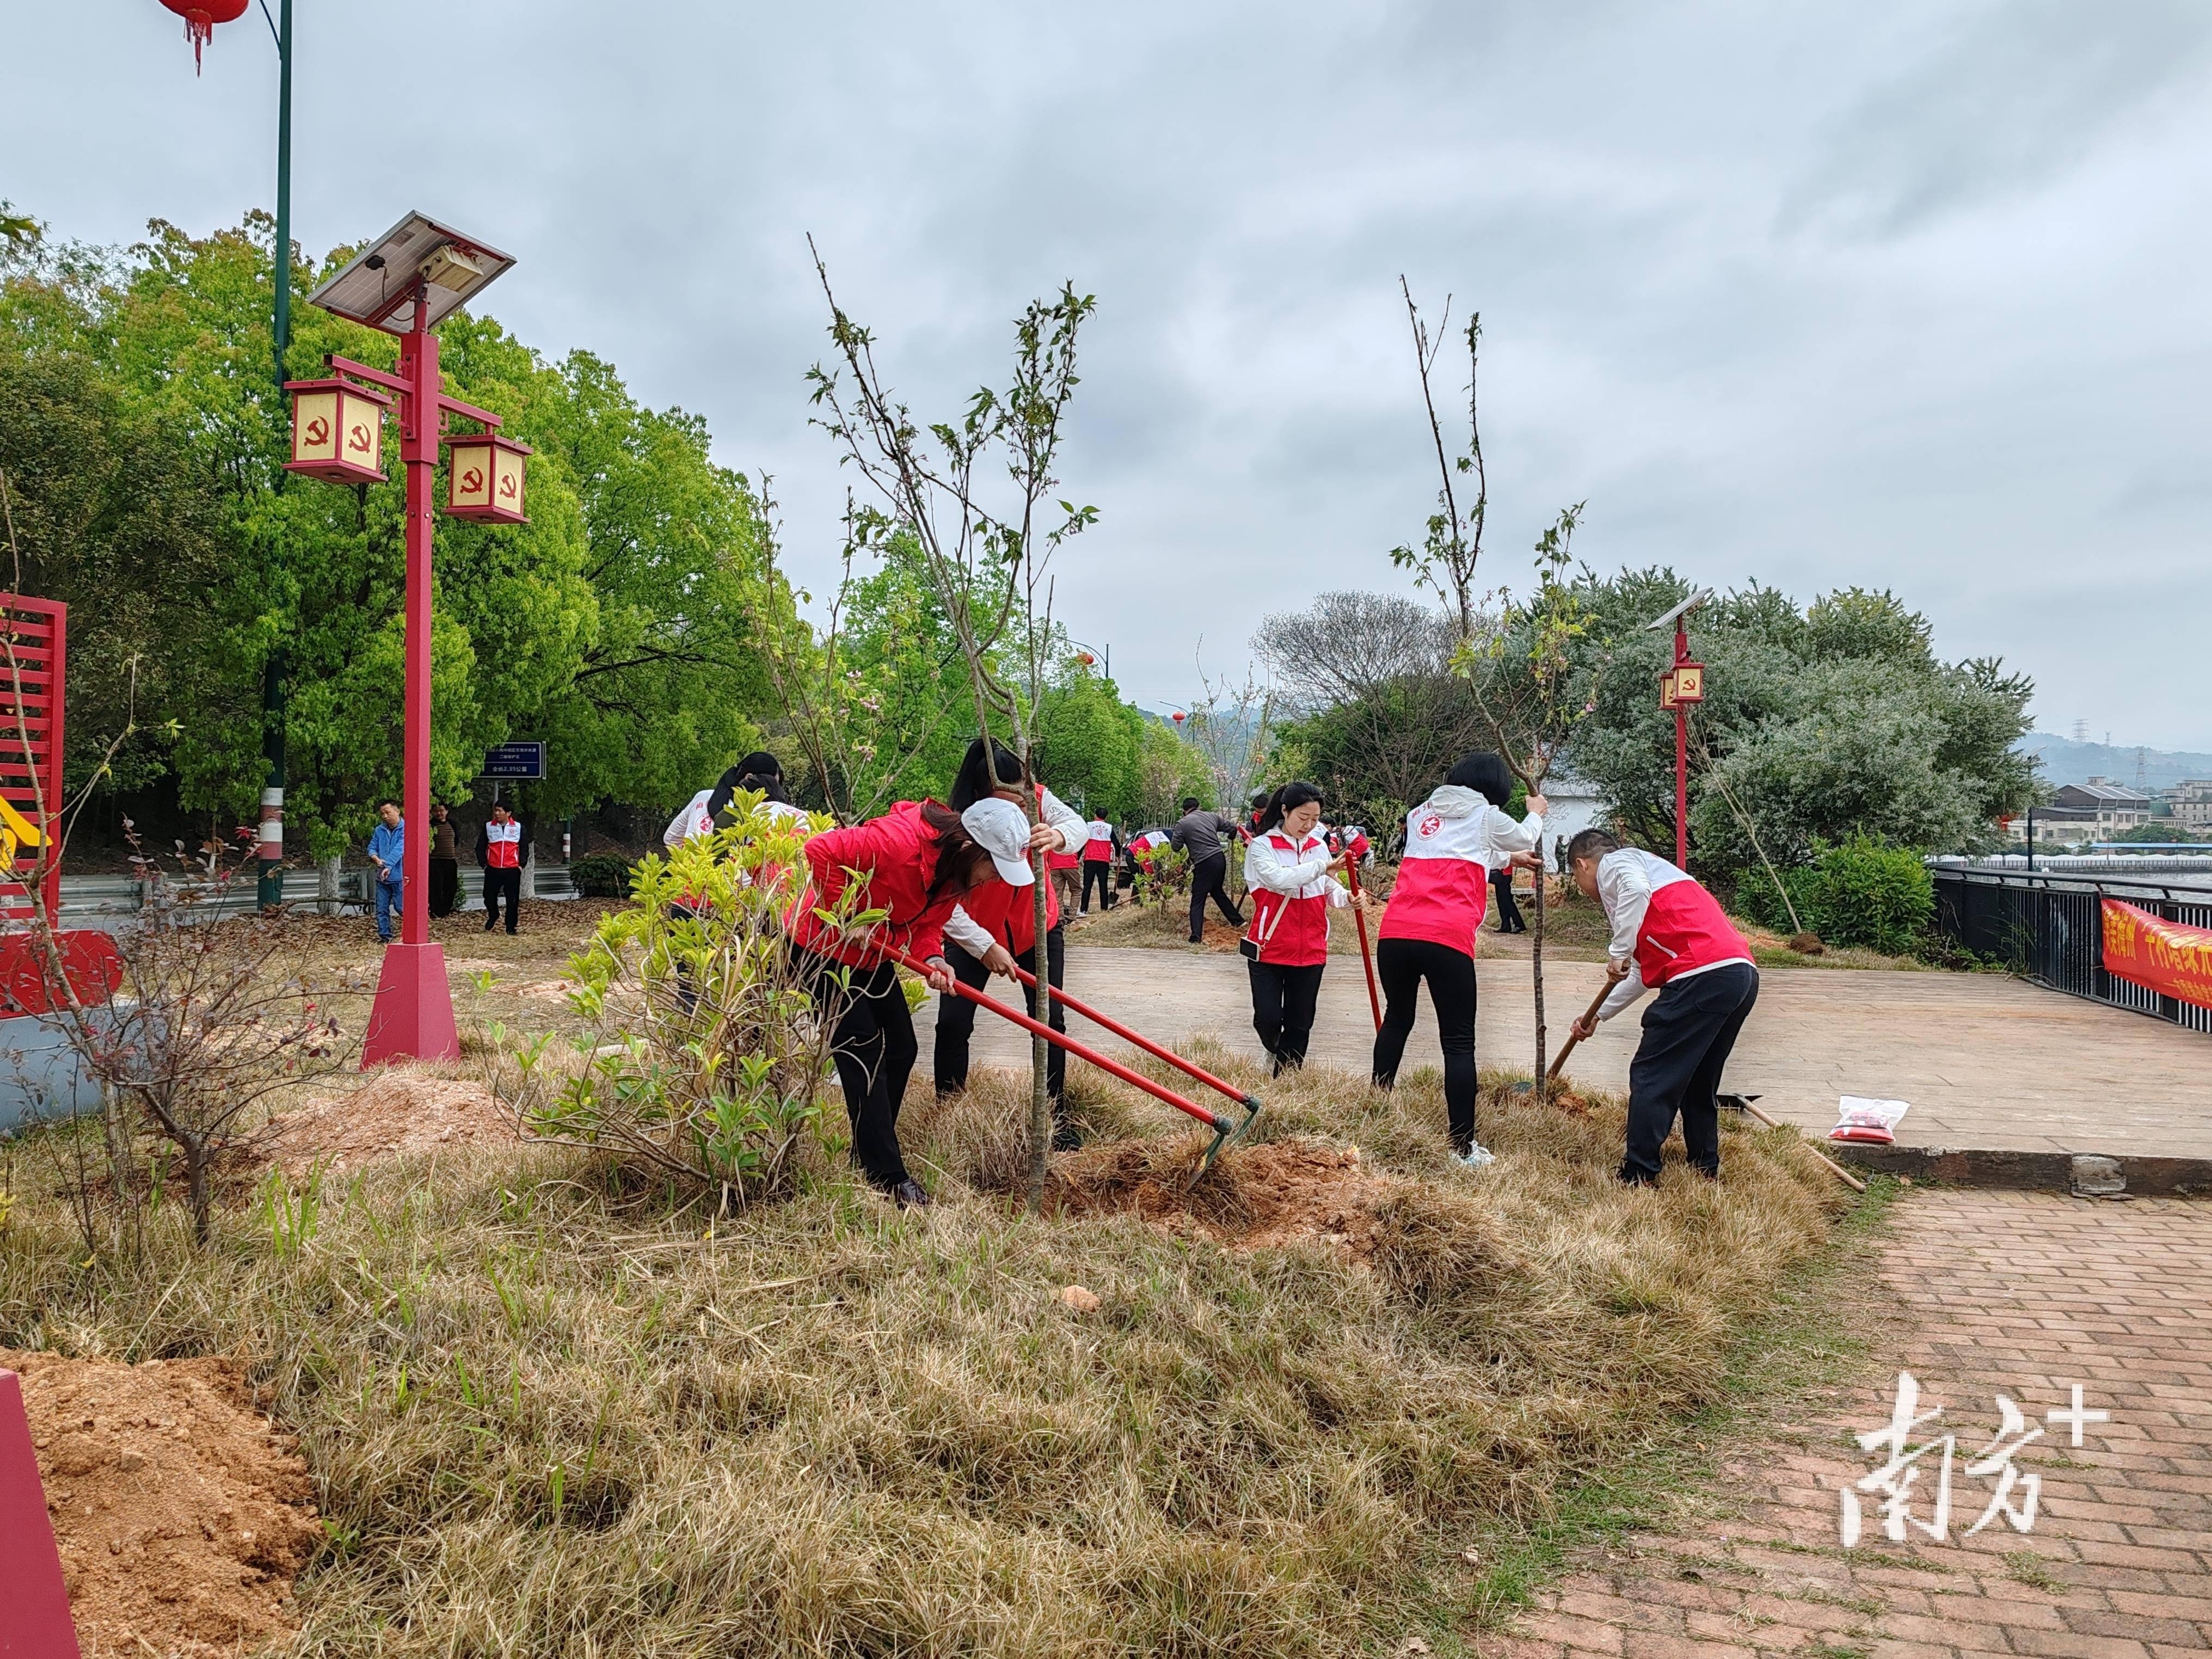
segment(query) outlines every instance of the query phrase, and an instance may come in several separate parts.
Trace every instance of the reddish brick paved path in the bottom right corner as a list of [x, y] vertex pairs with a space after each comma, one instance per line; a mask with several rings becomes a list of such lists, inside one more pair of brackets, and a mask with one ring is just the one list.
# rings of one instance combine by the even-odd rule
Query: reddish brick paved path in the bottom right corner
[[[1540, 1597], [1489, 1659], [2203, 1659], [2212, 1648], [2212, 1203], [2093, 1203], [2022, 1192], [1924, 1192], [1893, 1212], [1882, 1287], [1920, 1310], [1878, 1345], [1867, 1385], [1838, 1391], [1765, 1449], [1732, 1458], [1736, 1513], [1637, 1537]], [[1845, 1442], [1887, 1422], [1898, 1367], [1958, 1433], [1951, 1542], [1891, 1544], [1869, 1500], [1858, 1551], [1838, 1544], [1838, 1491], [1878, 1458]], [[2110, 1422], [2044, 1425], [2081, 1383]], [[1995, 1391], [2044, 1440], [2033, 1533], [1980, 1535], [1991, 1484], [1964, 1473], [1997, 1429]], [[1916, 1440], [1938, 1431], [1922, 1429]], [[1933, 1473], [1920, 1491], [1933, 1484]], [[1708, 1511], [1710, 1513], [1710, 1511]], [[1924, 1502], [1916, 1515], [1927, 1520]], [[2028, 1555], [2033, 1551], [2033, 1555]]]

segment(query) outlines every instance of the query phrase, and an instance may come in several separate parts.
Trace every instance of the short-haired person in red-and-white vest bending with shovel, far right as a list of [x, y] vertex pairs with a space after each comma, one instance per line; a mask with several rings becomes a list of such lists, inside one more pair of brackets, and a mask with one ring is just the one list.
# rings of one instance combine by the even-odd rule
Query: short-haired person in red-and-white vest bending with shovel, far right
[[1752, 947], [1721, 902], [1666, 858], [1626, 847], [1604, 830], [1584, 830], [1566, 845], [1575, 887], [1595, 898], [1613, 922], [1606, 980], [1613, 991], [1595, 1015], [1575, 1020], [1588, 1042], [1599, 1020], [1621, 1013], [1646, 991], [1659, 1000], [1644, 1013], [1644, 1042], [1628, 1064], [1628, 1150], [1621, 1179], [1659, 1179], [1659, 1150], [1681, 1115], [1681, 1148], [1699, 1175], [1721, 1172], [1721, 1068], [1736, 1033], [1759, 1002]]

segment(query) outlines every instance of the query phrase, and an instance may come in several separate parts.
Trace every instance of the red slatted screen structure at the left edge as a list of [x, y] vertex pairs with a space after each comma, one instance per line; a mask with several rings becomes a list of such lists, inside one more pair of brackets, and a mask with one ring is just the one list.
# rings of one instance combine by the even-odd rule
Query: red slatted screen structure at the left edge
[[[69, 679], [69, 606], [0, 593], [0, 929], [62, 918], [62, 688]], [[33, 834], [24, 834], [24, 832]]]

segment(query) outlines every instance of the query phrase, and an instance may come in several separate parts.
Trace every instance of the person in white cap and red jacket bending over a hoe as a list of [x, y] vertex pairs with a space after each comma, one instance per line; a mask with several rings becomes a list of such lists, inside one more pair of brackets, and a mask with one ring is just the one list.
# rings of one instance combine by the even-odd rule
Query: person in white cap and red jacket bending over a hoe
[[[880, 818], [823, 830], [805, 845], [807, 885], [783, 925], [792, 967], [823, 1018], [834, 1018], [830, 1053], [852, 1119], [852, 1159], [900, 1210], [929, 1203], [898, 1148], [898, 1104], [920, 1044], [914, 1013], [887, 951], [927, 964], [933, 991], [951, 991], [945, 920], [969, 891], [991, 880], [991, 854], [938, 801], [900, 801]], [[867, 927], [825, 920], [847, 891], [852, 905], [885, 911]], [[847, 909], [845, 914], [854, 914]]]

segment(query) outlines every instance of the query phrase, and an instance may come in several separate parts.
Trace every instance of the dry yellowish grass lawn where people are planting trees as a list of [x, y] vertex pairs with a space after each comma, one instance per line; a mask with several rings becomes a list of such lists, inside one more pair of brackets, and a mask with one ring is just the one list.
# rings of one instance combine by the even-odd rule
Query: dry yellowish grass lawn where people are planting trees
[[[544, 909], [478, 1020], [564, 1018], [586, 916]], [[1009, 1073], [909, 1093], [925, 1212], [843, 1121], [794, 1201], [721, 1214], [484, 1133], [86, 1256], [20, 1146], [0, 1345], [243, 1365], [325, 1528], [281, 1652], [1471, 1652], [1694, 1480], [1854, 1214], [1792, 1130], [1628, 1192], [1617, 1102], [1491, 1077], [1467, 1175], [1433, 1071], [1203, 1057], [1267, 1102], [1252, 1148], [1186, 1190], [1181, 1119], [1077, 1068], [1044, 1214]]]

